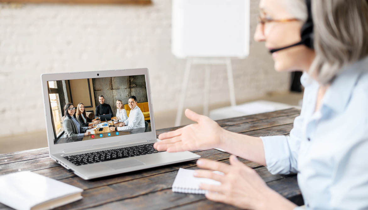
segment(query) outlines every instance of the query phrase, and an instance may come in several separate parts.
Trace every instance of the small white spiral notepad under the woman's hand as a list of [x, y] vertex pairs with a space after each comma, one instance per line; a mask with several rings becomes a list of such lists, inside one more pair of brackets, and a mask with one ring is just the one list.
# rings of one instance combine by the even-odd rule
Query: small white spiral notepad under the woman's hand
[[[213, 172], [223, 175], [222, 172]], [[199, 184], [221, 185], [219, 181], [209, 178], [194, 177], [194, 170], [180, 168], [173, 183], [173, 192], [192, 193], [192, 194], [206, 194], [207, 190], [200, 189]]]

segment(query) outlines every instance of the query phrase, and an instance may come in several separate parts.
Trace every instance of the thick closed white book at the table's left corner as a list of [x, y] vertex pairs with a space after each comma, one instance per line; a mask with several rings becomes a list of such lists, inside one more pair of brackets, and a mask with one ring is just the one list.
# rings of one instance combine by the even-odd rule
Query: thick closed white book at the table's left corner
[[24, 171], [0, 176], [0, 202], [17, 210], [48, 210], [82, 199], [83, 189]]

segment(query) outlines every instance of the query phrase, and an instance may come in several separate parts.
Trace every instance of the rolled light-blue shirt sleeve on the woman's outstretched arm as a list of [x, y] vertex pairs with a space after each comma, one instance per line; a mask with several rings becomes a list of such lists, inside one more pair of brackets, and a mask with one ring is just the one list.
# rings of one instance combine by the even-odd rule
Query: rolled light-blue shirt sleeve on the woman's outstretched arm
[[302, 113], [294, 119], [290, 136], [261, 137], [265, 150], [266, 167], [270, 173], [290, 174], [298, 172], [297, 159], [304, 120]]

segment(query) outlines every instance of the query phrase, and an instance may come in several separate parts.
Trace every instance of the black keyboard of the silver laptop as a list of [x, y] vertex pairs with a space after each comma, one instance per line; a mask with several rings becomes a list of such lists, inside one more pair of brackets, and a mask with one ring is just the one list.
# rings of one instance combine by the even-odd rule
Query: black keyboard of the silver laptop
[[76, 166], [80, 166], [159, 152], [155, 150], [155, 148], [153, 148], [153, 144], [154, 143], [98, 152], [89, 152], [79, 155], [64, 156], [63, 158], [67, 159], [69, 162], [73, 163]]

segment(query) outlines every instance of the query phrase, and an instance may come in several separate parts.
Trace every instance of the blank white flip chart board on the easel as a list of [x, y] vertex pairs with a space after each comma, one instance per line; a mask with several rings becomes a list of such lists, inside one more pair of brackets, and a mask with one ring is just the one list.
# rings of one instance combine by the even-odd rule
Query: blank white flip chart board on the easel
[[173, 0], [171, 36], [178, 58], [245, 58], [250, 0]]

